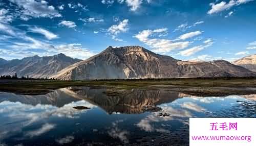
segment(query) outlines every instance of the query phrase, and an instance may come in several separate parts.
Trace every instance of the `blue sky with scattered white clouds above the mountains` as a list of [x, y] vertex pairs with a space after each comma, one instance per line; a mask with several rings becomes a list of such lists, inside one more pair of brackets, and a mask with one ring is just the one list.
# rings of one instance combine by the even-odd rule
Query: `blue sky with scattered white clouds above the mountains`
[[86, 59], [140, 45], [182, 60], [255, 54], [256, 1], [0, 0], [0, 57]]

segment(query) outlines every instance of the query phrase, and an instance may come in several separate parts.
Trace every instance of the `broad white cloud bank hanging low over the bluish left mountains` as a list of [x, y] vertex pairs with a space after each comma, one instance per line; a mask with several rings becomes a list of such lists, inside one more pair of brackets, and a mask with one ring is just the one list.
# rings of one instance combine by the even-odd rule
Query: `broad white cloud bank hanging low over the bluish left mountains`
[[[26, 35], [22, 35], [20, 38], [22, 38], [22, 41], [12, 42], [12, 44], [9, 46], [9, 48], [12, 48], [11, 50], [8, 48], [8, 52], [6, 52], [7, 50], [2, 50], [2, 55], [11, 55], [16, 58], [23, 58], [33, 55], [50, 56], [63, 53], [67, 56], [79, 59], [86, 59], [95, 55], [87, 48], [82, 47], [82, 45], [79, 43], [50, 44]], [[38, 50], [40, 53], [34, 52], [33, 50]]]

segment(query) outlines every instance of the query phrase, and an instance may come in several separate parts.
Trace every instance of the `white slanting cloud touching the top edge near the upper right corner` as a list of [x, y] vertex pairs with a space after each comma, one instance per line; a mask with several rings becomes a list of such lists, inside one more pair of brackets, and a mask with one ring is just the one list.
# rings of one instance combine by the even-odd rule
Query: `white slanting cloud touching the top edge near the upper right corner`
[[208, 14], [215, 14], [225, 10], [229, 10], [234, 6], [245, 4], [254, 0], [230, 0], [228, 3], [222, 1], [218, 4], [210, 3], [211, 9], [207, 12]]

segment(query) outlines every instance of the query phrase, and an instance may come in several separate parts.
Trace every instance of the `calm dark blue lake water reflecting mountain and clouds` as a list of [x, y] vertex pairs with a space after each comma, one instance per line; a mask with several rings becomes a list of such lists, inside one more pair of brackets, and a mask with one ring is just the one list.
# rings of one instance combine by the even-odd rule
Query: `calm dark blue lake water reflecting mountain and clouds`
[[[188, 145], [189, 117], [256, 117], [255, 99], [256, 95], [201, 98], [163, 89], [0, 92], [0, 145]], [[146, 105], [162, 110], [145, 112]]]

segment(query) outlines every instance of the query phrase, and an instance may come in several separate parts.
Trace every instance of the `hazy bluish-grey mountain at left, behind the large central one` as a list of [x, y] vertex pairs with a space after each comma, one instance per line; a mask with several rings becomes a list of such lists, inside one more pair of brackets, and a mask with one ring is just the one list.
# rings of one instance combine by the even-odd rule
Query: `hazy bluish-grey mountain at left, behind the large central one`
[[81, 60], [67, 57], [64, 54], [47, 57], [36, 55], [21, 60], [14, 59], [4, 65], [0, 65], [0, 75], [14, 75], [16, 72], [18, 77], [47, 78], [79, 61]]

